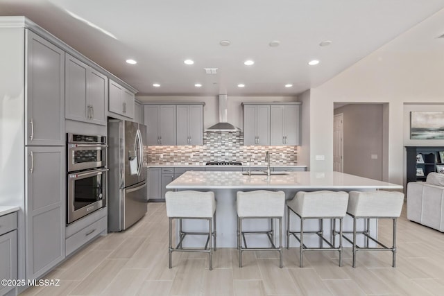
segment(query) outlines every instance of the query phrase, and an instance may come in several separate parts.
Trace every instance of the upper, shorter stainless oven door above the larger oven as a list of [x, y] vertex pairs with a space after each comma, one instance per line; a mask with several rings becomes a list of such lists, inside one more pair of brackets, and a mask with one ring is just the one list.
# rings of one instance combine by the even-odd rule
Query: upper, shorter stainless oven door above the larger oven
[[106, 166], [108, 145], [68, 143], [68, 171], [81, 171]]

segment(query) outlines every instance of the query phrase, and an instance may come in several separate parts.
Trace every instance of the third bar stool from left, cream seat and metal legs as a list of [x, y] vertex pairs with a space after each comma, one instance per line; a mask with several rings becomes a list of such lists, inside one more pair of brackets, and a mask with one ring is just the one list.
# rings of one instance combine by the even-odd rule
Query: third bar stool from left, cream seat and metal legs
[[[299, 266], [302, 268], [302, 255], [305, 251], [338, 251], [339, 252], [339, 266], [342, 266], [342, 225], [343, 218], [347, 211], [348, 193], [344, 191], [313, 191], [305, 192], [299, 191], [292, 200], [287, 200], [287, 249], [290, 247], [290, 236], [294, 236], [300, 243], [299, 247]], [[300, 218], [300, 232], [292, 232], [290, 230], [290, 216], [292, 211]], [[331, 219], [333, 221], [332, 227], [332, 241], [325, 238], [323, 232], [323, 219]], [[304, 230], [304, 220], [318, 219], [319, 229], [316, 231], [307, 232]], [[339, 246], [336, 247], [336, 219], [339, 220]], [[300, 237], [298, 237], [298, 234]], [[304, 244], [304, 234], [316, 234], [319, 236], [319, 247], [307, 247]], [[328, 247], [323, 247], [323, 242], [327, 243]]]

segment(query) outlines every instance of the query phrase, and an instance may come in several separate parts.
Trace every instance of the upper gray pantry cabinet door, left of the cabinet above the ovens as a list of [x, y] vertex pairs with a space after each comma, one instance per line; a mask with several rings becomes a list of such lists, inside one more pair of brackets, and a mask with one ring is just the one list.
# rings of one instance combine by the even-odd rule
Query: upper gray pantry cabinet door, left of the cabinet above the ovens
[[26, 30], [26, 145], [65, 144], [65, 52]]

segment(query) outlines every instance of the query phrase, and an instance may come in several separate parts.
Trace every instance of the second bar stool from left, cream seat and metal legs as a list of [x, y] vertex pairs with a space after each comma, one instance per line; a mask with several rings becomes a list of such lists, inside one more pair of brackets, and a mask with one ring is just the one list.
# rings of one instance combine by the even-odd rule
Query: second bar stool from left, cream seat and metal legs
[[[237, 249], [239, 250], [239, 267], [242, 267], [242, 252], [244, 251], [278, 251], [279, 267], [282, 268], [282, 217], [285, 209], [284, 191], [257, 190], [237, 192]], [[244, 232], [242, 221], [246, 218], [267, 218], [271, 221], [270, 230]], [[279, 247], [274, 243], [273, 219], [279, 220]], [[248, 247], [246, 234], [266, 234], [271, 247]], [[244, 241], [244, 243], [242, 243]]]

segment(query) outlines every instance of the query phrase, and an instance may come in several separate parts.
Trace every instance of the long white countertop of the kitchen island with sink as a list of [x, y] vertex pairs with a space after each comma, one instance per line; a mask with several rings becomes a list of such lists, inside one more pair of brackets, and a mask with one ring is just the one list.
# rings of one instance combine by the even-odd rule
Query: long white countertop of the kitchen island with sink
[[242, 175], [241, 172], [189, 171], [167, 189], [402, 189], [402, 185], [339, 172], [287, 172], [287, 175]]

